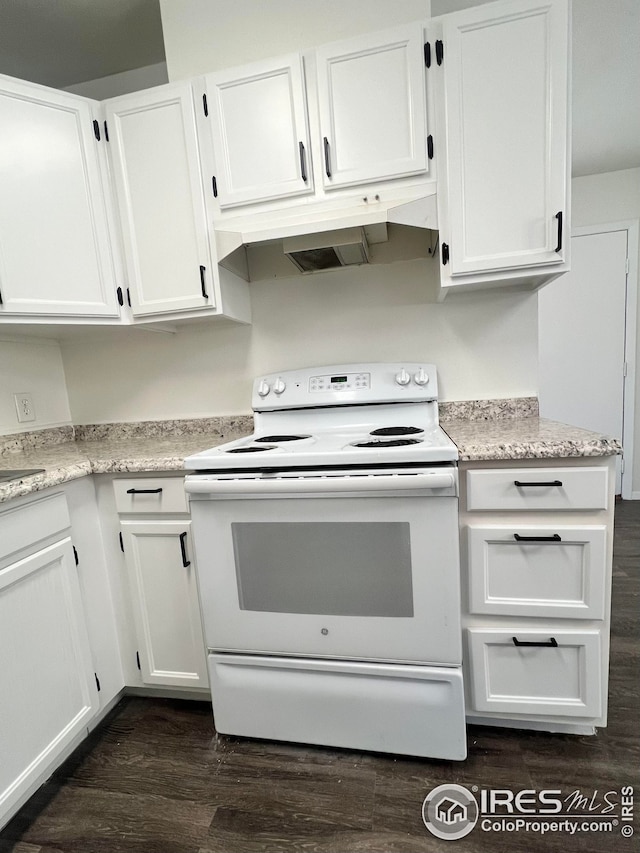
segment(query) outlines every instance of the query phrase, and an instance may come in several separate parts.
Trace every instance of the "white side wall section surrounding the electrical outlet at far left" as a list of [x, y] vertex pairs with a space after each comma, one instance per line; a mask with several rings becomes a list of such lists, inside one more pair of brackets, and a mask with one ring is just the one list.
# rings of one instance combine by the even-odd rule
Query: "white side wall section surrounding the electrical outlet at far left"
[[[33, 395], [36, 420], [18, 423], [14, 394]], [[60, 346], [0, 336], [0, 435], [71, 423]]]

